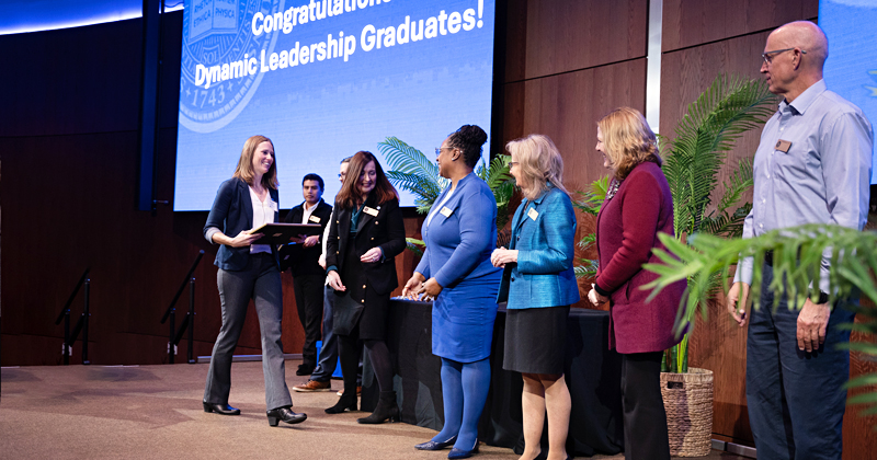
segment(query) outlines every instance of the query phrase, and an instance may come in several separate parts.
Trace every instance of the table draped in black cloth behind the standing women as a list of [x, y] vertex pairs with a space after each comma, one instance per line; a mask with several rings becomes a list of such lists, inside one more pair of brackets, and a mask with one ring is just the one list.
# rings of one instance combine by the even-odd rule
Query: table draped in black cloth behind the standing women
[[[565, 372], [572, 399], [567, 450], [576, 456], [615, 455], [624, 446], [620, 355], [607, 349], [608, 312], [571, 309]], [[402, 422], [442, 429], [442, 360], [432, 354], [432, 303], [390, 301], [387, 346], [394, 364], [394, 387]], [[490, 446], [523, 448], [519, 372], [502, 369], [505, 310], [493, 327], [492, 378], [478, 438]], [[368, 360], [363, 369], [363, 411], [373, 411], [378, 389]], [[424, 439], [426, 440], [426, 439]], [[543, 434], [547, 451], [547, 424]]]

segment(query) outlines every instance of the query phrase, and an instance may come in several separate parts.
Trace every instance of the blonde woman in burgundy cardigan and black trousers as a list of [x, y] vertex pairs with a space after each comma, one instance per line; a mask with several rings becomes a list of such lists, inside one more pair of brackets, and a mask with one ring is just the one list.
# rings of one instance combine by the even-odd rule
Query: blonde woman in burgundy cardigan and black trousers
[[673, 234], [673, 199], [661, 171], [654, 134], [638, 111], [620, 107], [597, 122], [596, 150], [613, 172], [597, 215], [600, 269], [588, 298], [610, 302], [610, 347], [622, 354], [625, 459], [670, 459], [661, 399], [663, 350], [680, 342], [673, 332], [685, 281], [651, 301], [640, 287], [657, 275], [642, 269], [664, 249], [658, 233]]

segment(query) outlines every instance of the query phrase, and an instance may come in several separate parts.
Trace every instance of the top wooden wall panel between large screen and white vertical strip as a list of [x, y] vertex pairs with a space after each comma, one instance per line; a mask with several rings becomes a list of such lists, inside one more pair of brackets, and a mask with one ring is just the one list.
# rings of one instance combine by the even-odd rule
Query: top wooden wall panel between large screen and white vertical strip
[[646, 56], [647, 0], [529, 0], [526, 14], [526, 79]]

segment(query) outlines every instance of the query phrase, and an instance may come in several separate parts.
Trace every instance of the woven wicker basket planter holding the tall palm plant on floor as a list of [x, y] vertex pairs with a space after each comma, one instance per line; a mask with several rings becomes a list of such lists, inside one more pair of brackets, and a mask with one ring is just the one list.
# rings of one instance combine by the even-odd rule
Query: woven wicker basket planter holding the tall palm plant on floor
[[713, 371], [661, 372], [670, 455], [703, 457], [713, 445]]

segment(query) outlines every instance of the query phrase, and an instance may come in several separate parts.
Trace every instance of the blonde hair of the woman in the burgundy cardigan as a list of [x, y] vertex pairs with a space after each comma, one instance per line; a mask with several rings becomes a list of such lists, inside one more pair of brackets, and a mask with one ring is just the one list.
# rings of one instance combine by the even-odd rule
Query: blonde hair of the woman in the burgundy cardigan
[[624, 181], [639, 163], [661, 164], [654, 133], [636, 108], [618, 107], [600, 118], [596, 125], [617, 180]]

